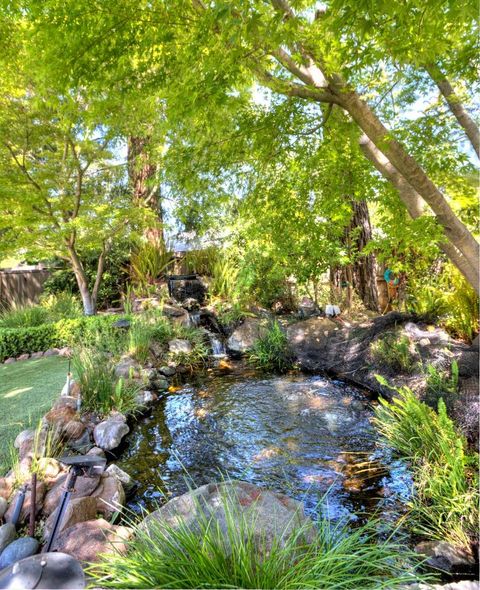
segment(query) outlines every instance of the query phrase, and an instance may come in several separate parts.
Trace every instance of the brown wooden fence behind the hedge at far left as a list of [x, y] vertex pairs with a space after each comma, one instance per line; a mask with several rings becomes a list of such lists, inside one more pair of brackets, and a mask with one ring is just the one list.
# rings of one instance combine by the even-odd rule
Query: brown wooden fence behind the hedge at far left
[[49, 276], [50, 271], [44, 269], [0, 271], [0, 307], [35, 303]]

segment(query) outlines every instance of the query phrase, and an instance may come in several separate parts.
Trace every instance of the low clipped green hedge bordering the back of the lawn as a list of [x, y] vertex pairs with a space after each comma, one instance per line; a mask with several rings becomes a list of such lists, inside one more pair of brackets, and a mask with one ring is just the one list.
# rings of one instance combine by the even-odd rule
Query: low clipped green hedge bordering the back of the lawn
[[76, 344], [117, 352], [125, 337], [123, 330], [112, 327], [119, 319], [120, 316], [116, 315], [100, 315], [60, 320], [32, 328], [0, 328], [0, 362], [27, 352]]

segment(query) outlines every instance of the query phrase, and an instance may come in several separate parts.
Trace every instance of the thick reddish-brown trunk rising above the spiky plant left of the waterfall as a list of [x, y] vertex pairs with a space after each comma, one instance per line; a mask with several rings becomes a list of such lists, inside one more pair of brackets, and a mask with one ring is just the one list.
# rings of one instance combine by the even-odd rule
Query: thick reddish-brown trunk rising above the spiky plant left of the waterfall
[[148, 153], [149, 143], [149, 137], [128, 138], [128, 176], [134, 202], [140, 207], [151, 209], [158, 221], [154, 227], [145, 230], [145, 237], [150, 242], [164, 245], [160, 187], [156, 182], [157, 166]]

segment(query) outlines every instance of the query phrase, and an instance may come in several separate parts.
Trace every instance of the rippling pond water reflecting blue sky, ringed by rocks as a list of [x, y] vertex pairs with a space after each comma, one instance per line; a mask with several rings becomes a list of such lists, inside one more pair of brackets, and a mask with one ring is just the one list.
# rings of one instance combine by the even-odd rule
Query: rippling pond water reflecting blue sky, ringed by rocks
[[133, 426], [118, 462], [139, 482], [129, 507], [151, 510], [230, 477], [301, 500], [312, 516], [393, 518], [411, 482], [376, 445], [372, 403], [323, 376], [265, 377], [241, 363], [210, 369]]

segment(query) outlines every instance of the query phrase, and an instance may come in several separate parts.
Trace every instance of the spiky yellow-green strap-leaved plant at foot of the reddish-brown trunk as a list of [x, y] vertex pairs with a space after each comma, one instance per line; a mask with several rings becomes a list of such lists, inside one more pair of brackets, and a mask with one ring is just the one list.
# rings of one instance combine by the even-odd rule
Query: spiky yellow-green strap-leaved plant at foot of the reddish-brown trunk
[[172, 253], [163, 243], [143, 242], [130, 257], [130, 279], [140, 294], [150, 295], [158, 280], [168, 272]]

